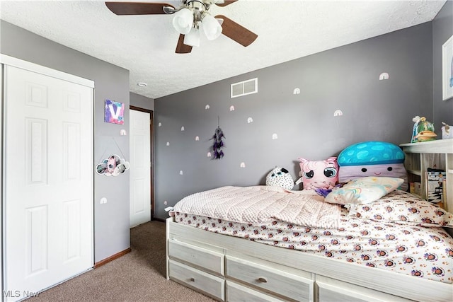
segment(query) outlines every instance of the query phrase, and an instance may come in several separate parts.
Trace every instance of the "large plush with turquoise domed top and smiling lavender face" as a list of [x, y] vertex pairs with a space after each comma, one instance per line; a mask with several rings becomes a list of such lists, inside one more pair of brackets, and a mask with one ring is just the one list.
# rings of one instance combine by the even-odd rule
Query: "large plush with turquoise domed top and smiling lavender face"
[[347, 182], [366, 176], [402, 178], [401, 190], [408, 189], [404, 152], [385, 141], [363, 141], [352, 144], [338, 155], [338, 180]]

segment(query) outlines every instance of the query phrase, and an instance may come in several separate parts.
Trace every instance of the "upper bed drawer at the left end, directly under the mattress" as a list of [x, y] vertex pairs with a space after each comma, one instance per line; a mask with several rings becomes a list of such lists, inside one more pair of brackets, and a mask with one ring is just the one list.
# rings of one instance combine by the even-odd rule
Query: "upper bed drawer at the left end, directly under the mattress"
[[177, 240], [168, 240], [168, 256], [224, 275], [224, 255]]

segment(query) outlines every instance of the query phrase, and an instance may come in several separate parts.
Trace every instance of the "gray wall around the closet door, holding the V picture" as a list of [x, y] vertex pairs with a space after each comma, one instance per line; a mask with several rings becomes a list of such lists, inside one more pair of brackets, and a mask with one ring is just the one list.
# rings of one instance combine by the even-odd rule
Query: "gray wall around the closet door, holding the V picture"
[[[129, 108], [129, 71], [113, 64], [76, 52], [43, 37], [0, 21], [1, 53], [42, 66], [81, 76], [95, 82], [94, 161], [101, 162], [115, 153], [129, 158], [129, 137], [120, 136], [120, 129], [129, 132], [129, 110], [125, 124], [109, 124], [103, 120], [105, 99], [125, 103]], [[94, 238], [95, 262], [130, 247], [129, 172], [107, 177], [94, 172]], [[106, 197], [108, 202], [100, 204]]]

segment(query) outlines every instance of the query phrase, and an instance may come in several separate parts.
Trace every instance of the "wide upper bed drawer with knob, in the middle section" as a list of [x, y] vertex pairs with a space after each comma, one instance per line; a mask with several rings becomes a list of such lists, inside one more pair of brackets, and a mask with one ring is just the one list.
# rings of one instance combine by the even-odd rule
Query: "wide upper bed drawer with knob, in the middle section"
[[226, 257], [226, 275], [297, 301], [310, 301], [313, 297], [311, 279], [236, 257]]

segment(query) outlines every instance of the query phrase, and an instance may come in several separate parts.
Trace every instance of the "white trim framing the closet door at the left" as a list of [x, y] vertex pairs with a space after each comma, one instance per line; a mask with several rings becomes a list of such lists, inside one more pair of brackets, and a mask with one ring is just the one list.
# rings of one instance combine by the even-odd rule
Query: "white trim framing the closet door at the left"
[[[3, 291], [4, 291], [4, 282], [6, 281], [4, 279], [4, 263], [5, 263], [5, 255], [4, 255], [4, 246], [5, 246], [5, 243], [6, 243], [6, 238], [5, 238], [5, 229], [4, 229], [4, 223], [5, 223], [5, 191], [4, 191], [4, 187], [5, 187], [5, 183], [4, 183], [4, 164], [5, 164], [5, 158], [4, 158], [4, 148], [5, 148], [5, 133], [6, 133], [6, 130], [4, 129], [4, 120], [5, 120], [5, 117], [4, 117], [4, 110], [3, 110], [3, 107], [4, 107], [4, 101], [5, 101], [5, 95], [4, 95], [4, 89], [3, 89], [3, 86], [4, 86], [4, 65], [9, 65], [9, 66], [14, 66], [14, 67], [18, 67], [20, 69], [25, 69], [25, 70], [28, 70], [28, 71], [33, 71], [35, 73], [38, 73], [38, 74], [43, 74], [43, 75], [46, 75], [46, 76], [52, 76], [52, 77], [55, 77], [57, 79], [62, 79], [64, 81], [69, 81], [71, 83], [77, 83], [79, 85], [83, 85], [83, 86], [87, 86], [89, 88], [92, 88], [94, 90], [94, 81], [91, 81], [91, 80], [88, 80], [88, 79], [83, 79], [79, 76], [74, 76], [72, 74], [67, 74], [67, 73], [64, 73], [62, 71], [57, 71], [55, 69], [50, 69], [50, 68], [47, 68], [45, 66], [40, 66], [38, 64], [34, 64], [34, 63], [31, 63], [31, 62], [26, 62], [26, 61], [23, 61], [21, 59], [16, 59], [14, 57], [10, 57], [10, 56], [7, 56], [5, 54], [0, 54], [0, 91], [1, 91], [1, 105], [0, 105], [0, 132], [1, 132], [1, 140], [0, 140], [0, 157], [1, 157], [1, 161], [0, 161], [0, 197], [1, 197], [1, 202], [0, 202], [0, 207], [1, 207], [1, 223], [0, 223], [0, 235], [1, 235], [1, 241], [0, 241], [0, 248], [1, 248], [1, 259], [0, 259], [0, 262], [1, 262], [1, 273], [0, 273], [0, 289], [1, 289], [1, 301], [4, 301], [4, 295], [3, 295]], [[92, 93], [92, 95], [94, 96], [94, 91]], [[94, 100], [93, 100], [94, 101]], [[94, 102], [93, 102], [94, 104]], [[91, 108], [92, 112], [93, 112], [93, 108]], [[91, 128], [93, 129], [94, 125], [91, 124]], [[94, 137], [94, 136], [93, 136]], [[92, 144], [92, 146], [94, 146], [94, 144]], [[91, 166], [93, 166], [93, 148], [91, 148]], [[93, 175], [91, 177], [91, 192], [93, 192], [93, 196], [92, 196], [92, 199], [94, 200], [94, 178], [93, 178]], [[91, 231], [93, 232], [94, 230], [94, 204], [93, 202], [91, 202], [91, 216], [92, 216], [92, 219], [91, 219]], [[91, 257], [92, 257], [92, 260], [91, 262], [94, 263], [94, 233], [93, 233], [93, 241], [91, 242]]]

